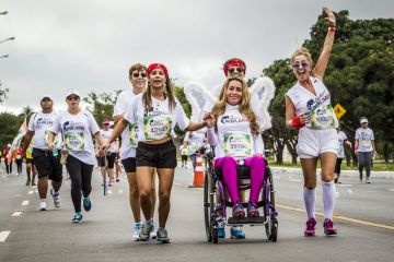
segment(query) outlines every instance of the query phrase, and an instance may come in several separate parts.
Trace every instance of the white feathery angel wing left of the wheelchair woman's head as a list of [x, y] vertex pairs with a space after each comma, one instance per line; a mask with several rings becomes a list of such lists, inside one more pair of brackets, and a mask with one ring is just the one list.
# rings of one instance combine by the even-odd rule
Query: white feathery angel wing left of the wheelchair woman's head
[[198, 82], [188, 82], [184, 86], [186, 99], [192, 106], [192, 118], [194, 122], [202, 120], [202, 108], [207, 103], [215, 104], [217, 99], [207, 87]]

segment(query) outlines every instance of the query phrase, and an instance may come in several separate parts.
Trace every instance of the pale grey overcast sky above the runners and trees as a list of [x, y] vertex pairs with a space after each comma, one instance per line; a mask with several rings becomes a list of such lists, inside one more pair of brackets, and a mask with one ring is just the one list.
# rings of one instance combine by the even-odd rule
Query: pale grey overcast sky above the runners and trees
[[43, 94], [127, 90], [128, 68], [162, 62], [176, 84], [223, 81], [222, 63], [240, 57], [246, 78], [291, 56], [309, 38], [322, 7], [350, 19], [393, 17], [393, 0], [1, 0], [0, 111], [38, 109]]

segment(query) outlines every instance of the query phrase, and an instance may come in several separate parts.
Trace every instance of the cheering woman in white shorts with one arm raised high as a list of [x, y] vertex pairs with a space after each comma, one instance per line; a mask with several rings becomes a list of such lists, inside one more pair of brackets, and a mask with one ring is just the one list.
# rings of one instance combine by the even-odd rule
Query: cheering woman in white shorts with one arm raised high
[[301, 48], [291, 57], [292, 72], [298, 82], [286, 93], [286, 124], [299, 129], [297, 151], [301, 160], [304, 177], [303, 199], [308, 221], [305, 236], [315, 234], [315, 199], [316, 165], [322, 164], [322, 188], [324, 205], [324, 233], [335, 235], [333, 224], [335, 205], [334, 167], [338, 146], [335, 117], [331, 95], [323, 84], [335, 35], [335, 16], [327, 8], [323, 8], [329, 23], [322, 53], [313, 68], [311, 53]]

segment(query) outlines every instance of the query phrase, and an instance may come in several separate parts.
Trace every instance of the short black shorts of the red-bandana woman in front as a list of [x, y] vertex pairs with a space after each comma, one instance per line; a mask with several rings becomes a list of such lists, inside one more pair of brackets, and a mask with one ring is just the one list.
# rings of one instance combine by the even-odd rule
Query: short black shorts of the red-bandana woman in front
[[147, 144], [139, 142], [136, 153], [137, 167], [149, 166], [155, 168], [175, 168], [176, 147], [172, 140], [162, 144]]

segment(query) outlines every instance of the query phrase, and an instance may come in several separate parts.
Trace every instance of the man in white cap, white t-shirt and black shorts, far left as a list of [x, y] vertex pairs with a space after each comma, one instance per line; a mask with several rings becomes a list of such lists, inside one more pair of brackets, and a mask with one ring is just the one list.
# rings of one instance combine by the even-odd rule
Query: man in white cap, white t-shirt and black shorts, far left
[[55, 122], [57, 114], [53, 109], [54, 102], [49, 95], [44, 95], [40, 100], [42, 111], [34, 114], [24, 136], [23, 151], [25, 152], [33, 139], [34, 165], [38, 171], [38, 194], [40, 199], [39, 210], [47, 210], [46, 195], [48, 191], [48, 179], [51, 180], [50, 194], [54, 205], [60, 207], [59, 189], [62, 181], [62, 167], [60, 165], [61, 138], [57, 140], [54, 151], [48, 150], [48, 134]]

